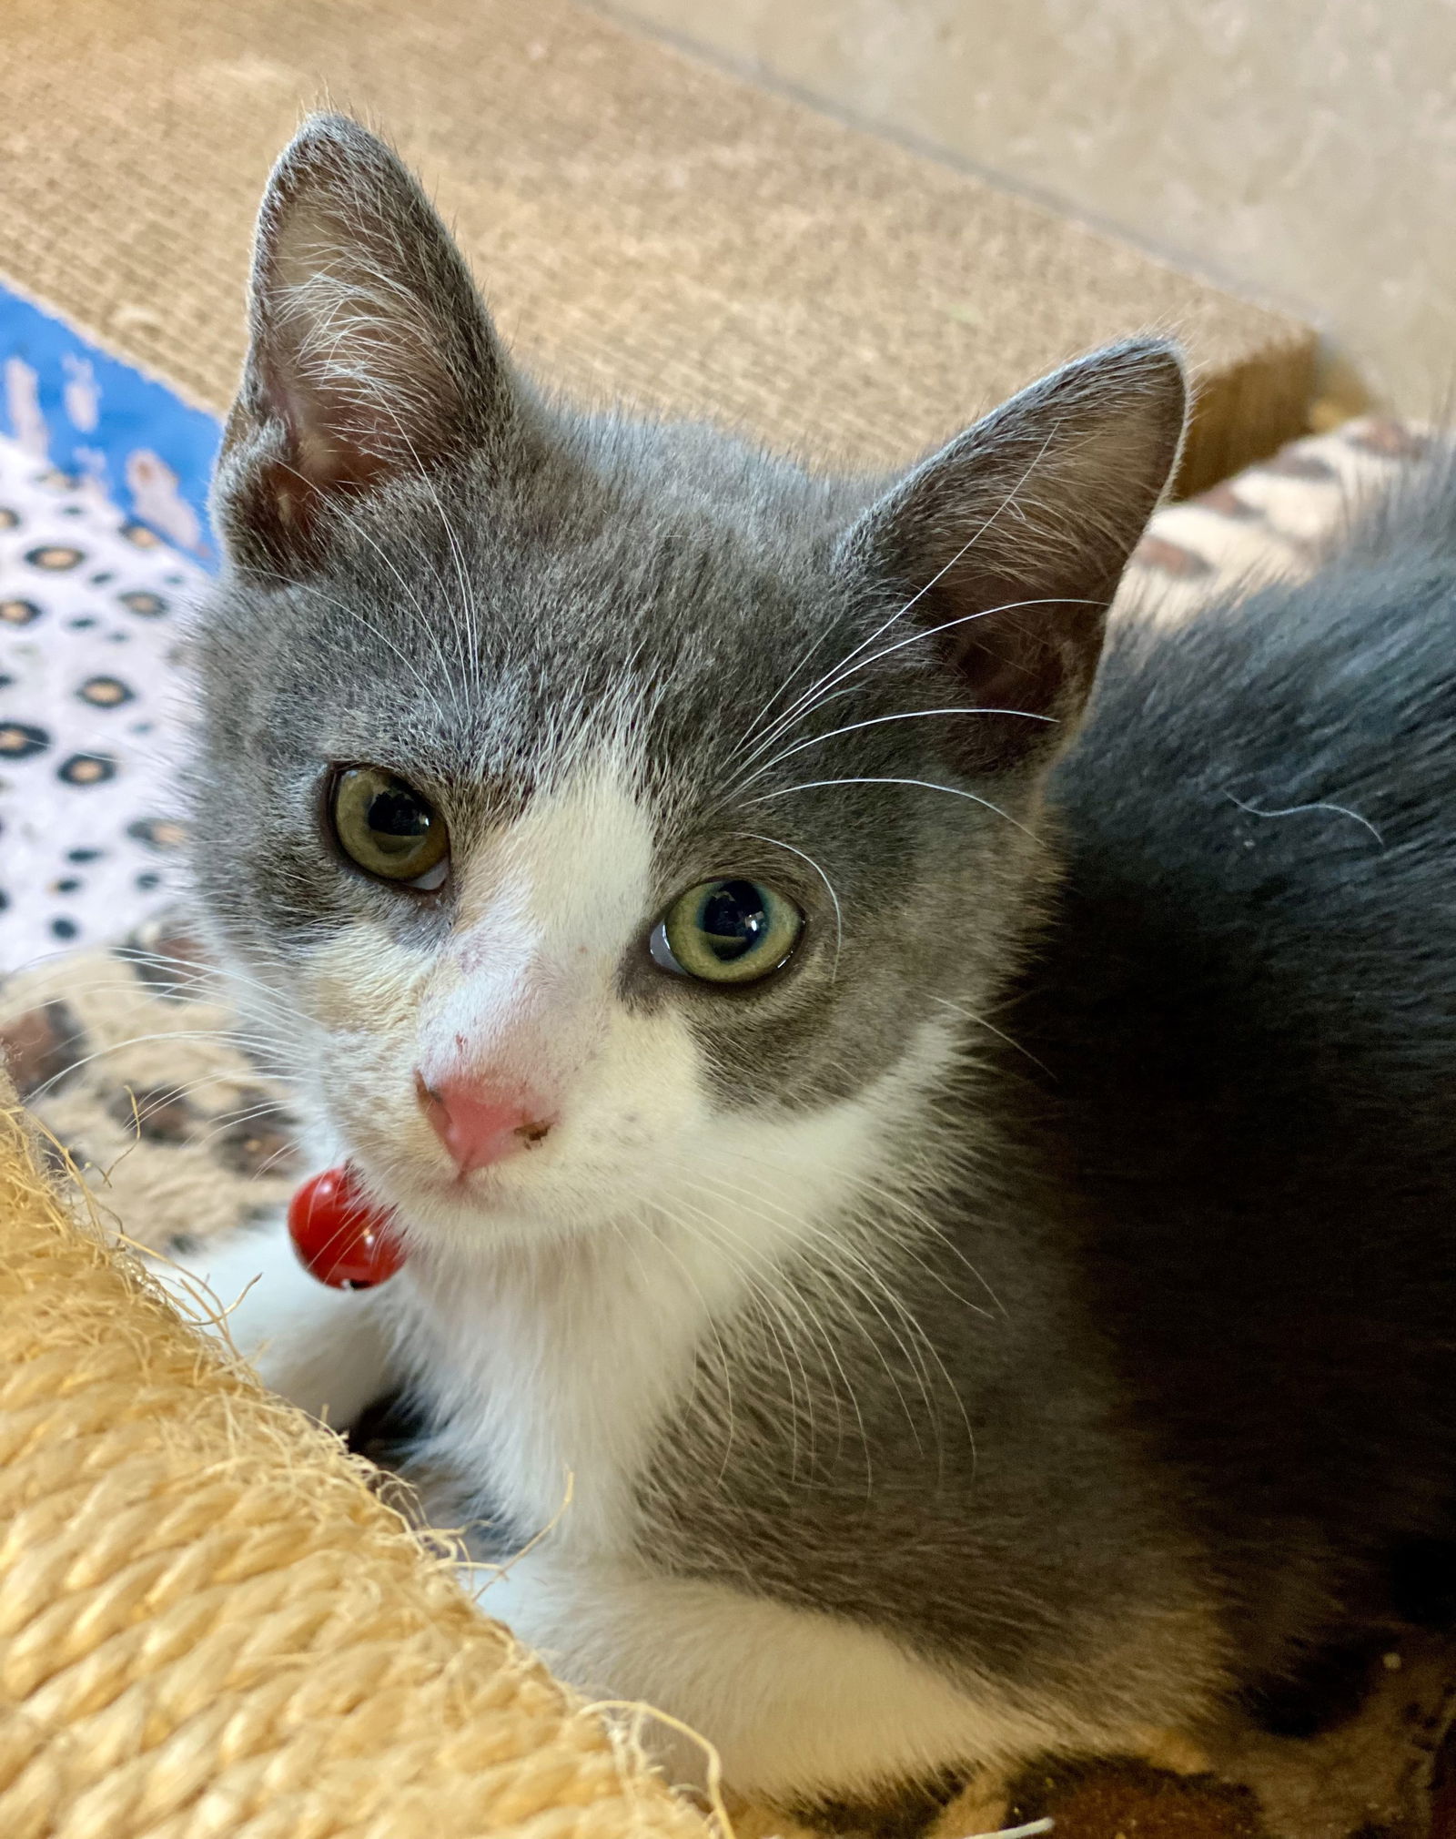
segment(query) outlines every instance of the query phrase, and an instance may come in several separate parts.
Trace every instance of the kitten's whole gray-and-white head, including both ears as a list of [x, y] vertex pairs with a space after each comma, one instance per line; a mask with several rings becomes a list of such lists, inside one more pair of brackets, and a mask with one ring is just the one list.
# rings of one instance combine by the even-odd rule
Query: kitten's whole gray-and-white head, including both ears
[[882, 1162], [1006, 971], [1182, 412], [1125, 344], [890, 484], [577, 414], [393, 154], [309, 123], [215, 485], [197, 877], [327, 1153], [456, 1247]]

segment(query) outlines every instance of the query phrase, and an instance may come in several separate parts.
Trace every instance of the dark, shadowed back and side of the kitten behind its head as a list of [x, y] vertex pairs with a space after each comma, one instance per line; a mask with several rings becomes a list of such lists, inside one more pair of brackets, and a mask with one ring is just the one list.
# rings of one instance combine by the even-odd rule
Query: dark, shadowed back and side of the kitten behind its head
[[1083, 1295], [1254, 1672], [1452, 1532], [1452, 633], [1443, 460], [1309, 583], [1116, 631], [1002, 1017], [1055, 1072]]

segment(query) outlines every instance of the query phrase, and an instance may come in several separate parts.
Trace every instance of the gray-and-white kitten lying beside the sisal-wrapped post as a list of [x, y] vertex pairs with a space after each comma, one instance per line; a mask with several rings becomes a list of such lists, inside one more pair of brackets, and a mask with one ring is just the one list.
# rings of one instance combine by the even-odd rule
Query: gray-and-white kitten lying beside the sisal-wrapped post
[[822, 478], [544, 395], [346, 120], [263, 204], [195, 874], [408, 1262], [206, 1269], [745, 1793], [1191, 1727], [1447, 1526], [1450, 554], [1075, 739], [1182, 414], [1129, 342]]

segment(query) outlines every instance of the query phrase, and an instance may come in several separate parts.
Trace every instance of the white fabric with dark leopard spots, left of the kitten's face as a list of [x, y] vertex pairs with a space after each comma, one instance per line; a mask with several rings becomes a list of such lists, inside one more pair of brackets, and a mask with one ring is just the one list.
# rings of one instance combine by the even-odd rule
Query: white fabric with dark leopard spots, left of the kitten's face
[[178, 623], [202, 581], [0, 438], [0, 969], [176, 899]]

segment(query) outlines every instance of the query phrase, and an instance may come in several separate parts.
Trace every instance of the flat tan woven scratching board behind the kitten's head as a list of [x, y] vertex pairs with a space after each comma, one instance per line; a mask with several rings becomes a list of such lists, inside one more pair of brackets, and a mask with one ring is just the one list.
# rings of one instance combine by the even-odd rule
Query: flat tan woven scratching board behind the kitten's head
[[1303, 432], [1298, 320], [572, 0], [4, 0], [0, 61], [0, 270], [210, 408], [268, 164], [329, 99], [572, 395], [879, 469], [1158, 327], [1200, 383], [1188, 491]]

